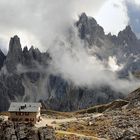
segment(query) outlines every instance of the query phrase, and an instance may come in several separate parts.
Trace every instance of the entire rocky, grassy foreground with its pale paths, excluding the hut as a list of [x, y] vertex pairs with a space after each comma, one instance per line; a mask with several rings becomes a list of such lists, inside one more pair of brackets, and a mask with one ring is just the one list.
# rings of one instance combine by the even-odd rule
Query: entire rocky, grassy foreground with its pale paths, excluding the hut
[[[138, 89], [127, 96], [127, 101], [116, 100], [100, 105], [105, 108], [102, 111], [96, 109], [96, 113], [93, 108], [65, 113], [47, 110], [42, 114], [41, 122], [35, 126], [30, 123], [4, 121], [5, 117], [0, 116], [0, 139], [139, 140], [139, 93]], [[98, 111], [101, 113], [98, 114]]]

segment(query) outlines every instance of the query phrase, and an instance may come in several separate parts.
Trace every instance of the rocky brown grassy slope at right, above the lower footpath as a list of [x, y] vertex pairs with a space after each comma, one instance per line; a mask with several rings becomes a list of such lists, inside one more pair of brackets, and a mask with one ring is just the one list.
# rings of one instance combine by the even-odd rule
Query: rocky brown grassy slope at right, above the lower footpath
[[[127, 101], [116, 100], [106, 105], [77, 111], [77, 121], [65, 123], [60, 129], [71, 133], [94, 136], [106, 140], [140, 139], [140, 90], [127, 96]], [[95, 112], [102, 112], [94, 117]], [[78, 115], [79, 114], [79, 115]], [[87, 119], [84, 119], [87, 117]], [[70, 138], [69, 138], [70, 139]]]

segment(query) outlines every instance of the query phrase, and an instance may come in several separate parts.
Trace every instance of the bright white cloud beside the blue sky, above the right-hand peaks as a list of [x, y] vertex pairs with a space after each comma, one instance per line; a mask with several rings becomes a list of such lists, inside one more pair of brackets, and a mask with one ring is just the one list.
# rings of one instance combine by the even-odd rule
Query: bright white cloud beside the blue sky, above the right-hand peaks
[[106, 33], [111, 32], [117, 35], [128, 24], [127, 11], [123, 2], [124, 0], [109, 0], [95, 16]]

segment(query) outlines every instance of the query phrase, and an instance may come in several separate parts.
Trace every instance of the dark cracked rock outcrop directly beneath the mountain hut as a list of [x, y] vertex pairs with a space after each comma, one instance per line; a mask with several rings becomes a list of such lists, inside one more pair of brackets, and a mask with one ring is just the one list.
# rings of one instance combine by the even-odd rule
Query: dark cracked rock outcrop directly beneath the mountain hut
[[56, 140], [54, 129], [51, 127], [41, 127], [39, 129], [32, 124], [21, 122], [2, 122], [0, 124], [1, 140]]

